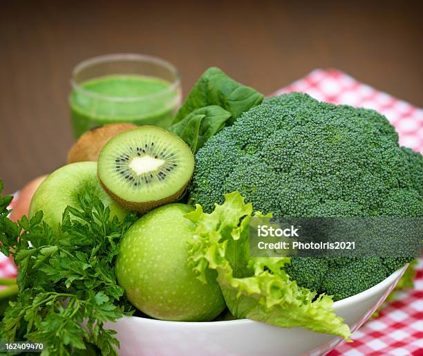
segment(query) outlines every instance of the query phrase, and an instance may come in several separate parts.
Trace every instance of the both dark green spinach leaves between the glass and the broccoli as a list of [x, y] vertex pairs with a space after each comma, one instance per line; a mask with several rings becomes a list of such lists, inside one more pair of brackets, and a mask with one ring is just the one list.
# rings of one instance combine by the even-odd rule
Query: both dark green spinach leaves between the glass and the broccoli
[[180, 135], [195, 153], [263, 98], [263, 94], [234, 81], [219, 68], [209, 68], [191, 89], [169, 130]]

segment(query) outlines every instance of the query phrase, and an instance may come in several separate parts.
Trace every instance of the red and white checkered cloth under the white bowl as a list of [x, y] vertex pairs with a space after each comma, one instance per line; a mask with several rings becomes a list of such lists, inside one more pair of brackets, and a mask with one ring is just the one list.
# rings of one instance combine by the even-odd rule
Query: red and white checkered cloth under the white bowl
[[[423, 110], [397, 100], [336, 70], [312, 71], [274, 94], [303, 91], [317, 100], [375, 109], [386, 115], [400, 134], [400, 144], [423, 152]], [[15, 277], [12, 263], [0, 254], [0, 278]], [[354, 342], [339, 344], [328, 356], [423, 356], [423, 259], [417, 265], [415, 288], [397, 299], [353, 335]]]

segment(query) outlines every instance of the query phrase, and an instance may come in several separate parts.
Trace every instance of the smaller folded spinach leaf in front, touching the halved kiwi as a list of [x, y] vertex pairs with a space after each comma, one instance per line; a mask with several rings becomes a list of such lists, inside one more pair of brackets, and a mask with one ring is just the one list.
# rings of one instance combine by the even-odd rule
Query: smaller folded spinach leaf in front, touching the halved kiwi
[[194, 110], [176, 124], [169, 131], [187, 142], [193, 153], [203, 147], [207, 139], [225, 126], [231, 113], [217, 105], [205, 106]]

